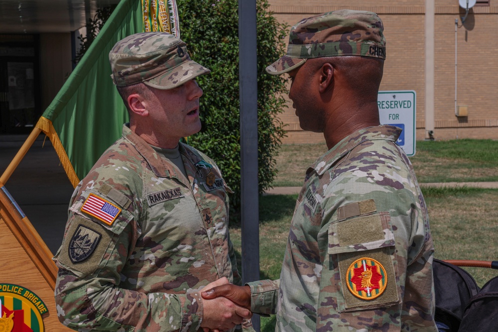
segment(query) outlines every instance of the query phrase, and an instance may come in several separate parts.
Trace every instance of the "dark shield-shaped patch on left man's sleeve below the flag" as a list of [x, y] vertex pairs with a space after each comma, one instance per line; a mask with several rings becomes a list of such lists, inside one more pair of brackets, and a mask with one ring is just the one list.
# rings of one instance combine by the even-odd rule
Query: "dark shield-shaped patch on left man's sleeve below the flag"
[[78, 263], [84, 261], [94, 252], [99, 244], [101, 238], [101, 233], [85, 227], [83, 225], [78, 225], [76, 231], [71, 237], [69, 242], [69, 258], [73, 263]]

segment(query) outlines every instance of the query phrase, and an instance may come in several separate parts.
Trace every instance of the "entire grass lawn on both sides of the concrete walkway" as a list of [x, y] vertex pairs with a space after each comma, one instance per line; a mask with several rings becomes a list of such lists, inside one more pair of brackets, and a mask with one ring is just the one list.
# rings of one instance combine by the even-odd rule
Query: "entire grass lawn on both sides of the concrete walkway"
[[[325, 144], [283, 145], [274, 186], [301, 186], [306, 168], [326, 151]], [[417, 141], [410, 157], [420, 183], [498, 181], [498, 141]], [[422, 191], [439, 259], [498, 260], [498, 190], [428, 188]], [[266, 195], [259, 200], [261, 279], [277, 279], [297, 195]], [[240, 252], [240, 227], [230, 229]], [[465, 268], [481, 287], [497, 270]], [[274, 331], [275, 319], [261, 318], [261, 331]]]

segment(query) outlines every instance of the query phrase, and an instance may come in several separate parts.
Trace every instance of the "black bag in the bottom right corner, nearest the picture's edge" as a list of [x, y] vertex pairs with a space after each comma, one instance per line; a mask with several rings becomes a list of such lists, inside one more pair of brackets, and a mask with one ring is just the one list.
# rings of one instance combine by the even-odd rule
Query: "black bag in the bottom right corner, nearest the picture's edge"
[[461, 332], [498, 331], [498, 277], [488, 281], [465, 308]]

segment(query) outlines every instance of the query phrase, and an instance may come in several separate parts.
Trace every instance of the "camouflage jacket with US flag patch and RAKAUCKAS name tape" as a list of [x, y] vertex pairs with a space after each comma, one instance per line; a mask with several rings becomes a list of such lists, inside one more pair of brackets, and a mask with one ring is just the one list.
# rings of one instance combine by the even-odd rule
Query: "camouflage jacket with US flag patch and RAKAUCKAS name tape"
[[61, 248], [59, 320], [78, 331], [197, 331], [199, 288], [241, 283], [215, 163], [180, 143], [188, 179], [126, 125], [76, 188]]

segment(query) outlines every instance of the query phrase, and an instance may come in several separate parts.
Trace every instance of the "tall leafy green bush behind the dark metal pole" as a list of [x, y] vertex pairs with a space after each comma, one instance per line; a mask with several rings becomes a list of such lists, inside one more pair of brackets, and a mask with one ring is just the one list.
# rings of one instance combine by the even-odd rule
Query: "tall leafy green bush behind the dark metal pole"
[[[234, 190], [231, 221], [238, 221], [241, 205], [241, 156], [239, 124], [239, 17], [238, 0], [177, 0], [180, 37], [191, 58], [211, 69], [198, 77], [201, 98], [201, 132], [188, 143], [213, 158]], [[285, 78], [271, 76], [266, 66], [284, 51], [286, 25], [268, 11], [267, 0], [257, 0], [257, 114], [258, 189], [271, 187], [276, 175], [274, 156], [278, 152], [284, 125], [277, 118], [283, 111]]]

